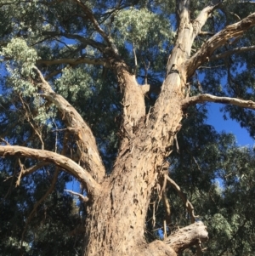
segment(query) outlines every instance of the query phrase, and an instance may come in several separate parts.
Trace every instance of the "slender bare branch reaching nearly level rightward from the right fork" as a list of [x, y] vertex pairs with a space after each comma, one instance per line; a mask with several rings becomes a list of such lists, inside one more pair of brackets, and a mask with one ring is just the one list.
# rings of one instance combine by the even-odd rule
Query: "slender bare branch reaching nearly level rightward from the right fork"
[[222, 104], [238, 105], [244, 108], [255, 110], [255, 102], [252, 100], [240, 100], [240, 99], [229, 98], [229, 97], [218, 97], [211, 94], [200, 94], [200, 95], [185, 99], [183, 100], [183, 107], [186, 108], [190, 105], [195, 105], [197, 103], [204, 103], [204, 102], [215, 102], [215, 103], [222, 103]]

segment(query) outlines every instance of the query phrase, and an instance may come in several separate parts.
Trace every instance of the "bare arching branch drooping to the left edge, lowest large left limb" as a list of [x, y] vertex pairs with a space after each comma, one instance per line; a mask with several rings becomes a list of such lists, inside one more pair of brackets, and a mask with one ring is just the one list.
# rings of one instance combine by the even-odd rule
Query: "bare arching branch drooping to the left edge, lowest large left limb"
[[99, 195], [100, 185], [93, 179], [92, 175], [68, 157], [52, 151], [42, 151], [19, 145], [0, 145], [0, 156], [26, 156], [43, 162], [52, 162], [79, 179], [92, 195]]

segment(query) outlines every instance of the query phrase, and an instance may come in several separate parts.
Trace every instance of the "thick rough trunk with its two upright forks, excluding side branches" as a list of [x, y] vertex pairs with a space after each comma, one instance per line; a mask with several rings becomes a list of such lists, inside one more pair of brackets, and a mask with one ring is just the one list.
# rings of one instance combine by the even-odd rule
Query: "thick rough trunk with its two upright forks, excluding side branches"
[[[150, 194], [181, 128], [182, 100], [188, 90], [184, 62], [202, 26], [195, 26], [194, 31], [188, 9], [180, 4], [179, 12], [178, 39], [167, 63], [167, 77], [154, 109], [147, 116], [142, 87], [128, 73], [126, 65], [113, 64], [124, 94], [122, 143], [111, 176], [102, 184], [102, 195], [88, 206], [84, 255], [173, 256], [190, 244], [184, 237], [180, 247], [160, 241], [148, 244], [144, 239]], [[198, 234], [195, 242], [200, 239], [201, 233]], [[194, 242], [194, 236], [190, 240]]]

